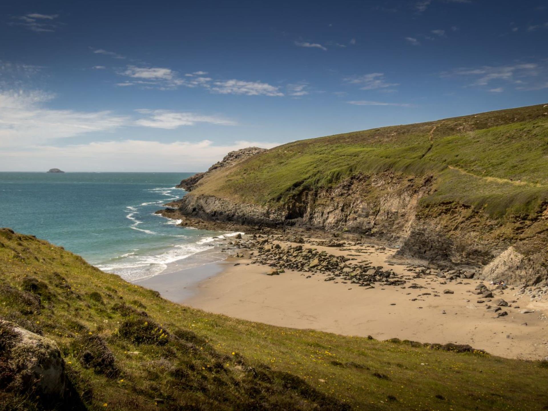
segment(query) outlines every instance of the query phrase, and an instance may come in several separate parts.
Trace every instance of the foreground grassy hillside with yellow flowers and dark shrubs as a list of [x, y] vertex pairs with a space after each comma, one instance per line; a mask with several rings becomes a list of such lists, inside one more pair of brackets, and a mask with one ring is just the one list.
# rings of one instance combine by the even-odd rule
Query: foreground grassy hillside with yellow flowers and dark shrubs
[[[7, 229], [0, 230], [0, 317], [56, 341], [88, 409], [548, 407], [545, 362], [213, 315]], [[0, 328], [0, 409], [41, 409], [40, 398], [12, 384], [16, 358], [6, 335]]]

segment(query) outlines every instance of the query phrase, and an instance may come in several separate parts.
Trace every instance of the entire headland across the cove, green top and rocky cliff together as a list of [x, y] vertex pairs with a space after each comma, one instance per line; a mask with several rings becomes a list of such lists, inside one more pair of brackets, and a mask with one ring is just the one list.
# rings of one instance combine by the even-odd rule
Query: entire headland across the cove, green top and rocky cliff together
[[[351, 233], [395, 259], [548, 279], [546, 105], [302, 140], [227, 156], [172, 204], [179, 215]], [[187, 222], [185, 222], [187, 224]]]

